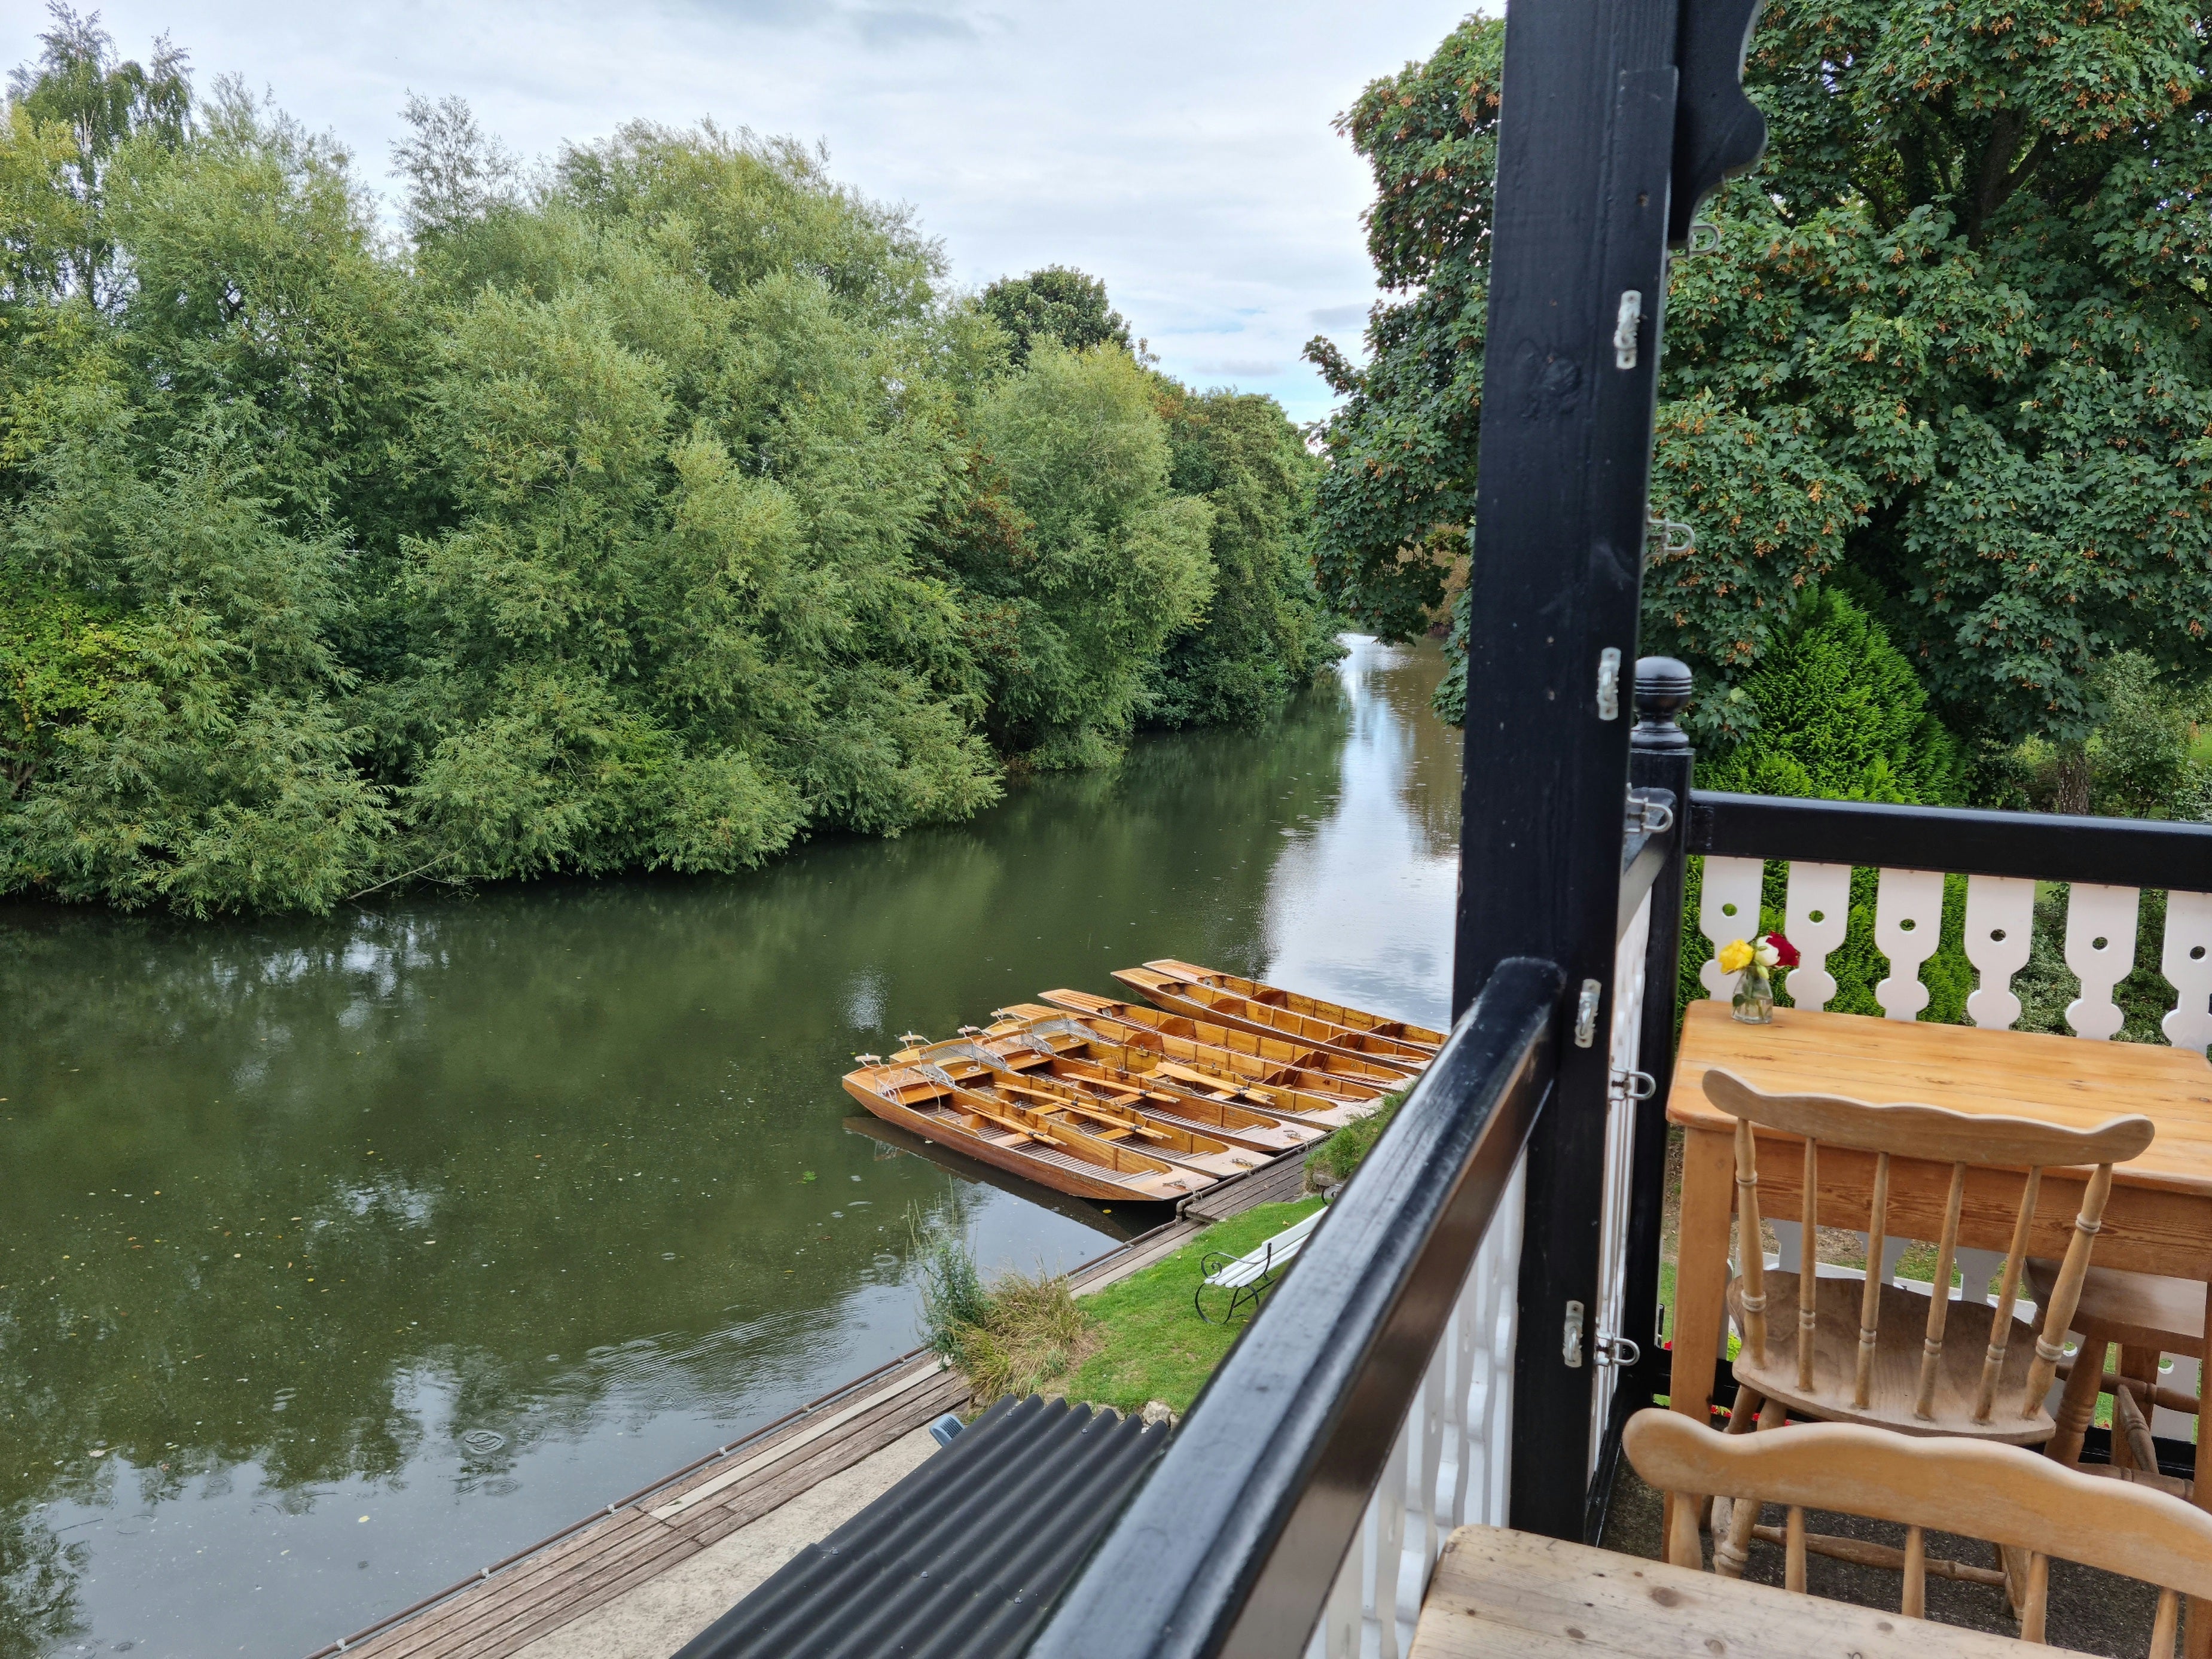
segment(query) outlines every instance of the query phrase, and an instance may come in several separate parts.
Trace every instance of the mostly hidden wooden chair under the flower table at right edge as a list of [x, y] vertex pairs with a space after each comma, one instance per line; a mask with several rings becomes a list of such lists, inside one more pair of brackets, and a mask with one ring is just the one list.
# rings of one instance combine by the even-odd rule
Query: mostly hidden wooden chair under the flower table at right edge
[[[2028, 1261], [2028, 1285], [2048, 1298], [2062, 1263]], [[2059, 1396], [2057, 1433], [2051, 1455], [2081, 1467], [2081, 1436], [2097, 1416], [2099, 1394], [2112, 1396], [2112, 1462], [2090, 1473], [2117, 1475], [2159, 1486], [2174, 1498], [2192, 1500], [2190, 1480], [2159, 1473], [2159, 1453], [2150, 1444], [2150, 1411], [2166, 1407], [2197, 1418], [2203, 1433], [2201, 1398], [2159, 1385], [2159, 1358], [2179, 1354], [2197, 1360], [2197, 1391], [2205, 1387], [2205, 1287], [2192, 1279], [2130, 1274], [2117, 1267], [2090, 1267], [2081, 1279], [2081, 1296], [2073, 1310], [2073, 1329], [2081, 1352], [2066, 1374]], [[2106, 1354], [2119, 1343], [2119, 1369], [2106, 1371]]]

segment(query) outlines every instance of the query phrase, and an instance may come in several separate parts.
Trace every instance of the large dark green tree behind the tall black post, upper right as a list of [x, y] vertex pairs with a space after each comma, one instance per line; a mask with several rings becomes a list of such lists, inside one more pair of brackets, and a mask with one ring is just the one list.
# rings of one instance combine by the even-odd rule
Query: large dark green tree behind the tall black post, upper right
[[[1376, 175], [1369, 363], [1312, 347], [1325, 593], [1405, 635], [1467, 546], [1504, 24], [1345, 117]], [[1770, 0], [1763, 168], [1677, 259], [1646, 648], [1739, 737], [1798, 597], [1847, 566], [1958, 728], [2079, 743], [2095, 668], [2212, 664], [2212, 86], [2174, 0]]]

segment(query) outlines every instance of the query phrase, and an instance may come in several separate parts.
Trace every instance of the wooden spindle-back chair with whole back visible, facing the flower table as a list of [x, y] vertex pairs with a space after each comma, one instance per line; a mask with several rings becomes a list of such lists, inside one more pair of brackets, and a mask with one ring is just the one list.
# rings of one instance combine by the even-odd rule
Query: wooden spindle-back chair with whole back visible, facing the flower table
[[[2011, 1444], [2042, 1444], [2057, 1431], [2044, 1409], [2073, 1318], [2090, 1245], [2112, 1190], [2112, 1164], [2150, 1146], [2148, 1117], [2115, 1117], [2077, 1130], [2024, 1117], [1980, 1117], [1940, 1106], [1867, 1106], [1834, 1095], [1767, 1095], [1741, 1077], [1712, 1068], [1705, 1097], [1736, 1119], [1736, 1212], [1743, 1272], [1728, 1285], [1728, 1312], [1743, 1336], [1736, 1356], [1736, 1405], [1730, 1433], [1785, 1422], [1787, 1416], [1854, 1422], [1909, 1436], [1966, 1436]], [[1803, 1139], [1803, 1241], [1798, 1270], [1767, 1272], [1759, 1232], [1759, 1144], [1754, 1126]], [[1874, 1155], [1874, 1203], [1867, 1217], [1865, 1279], [1820, 1279], [1816, 1241], [1820, 1217], [1820, 1148]], [[1940, 1294], [1918, 1296], [1882, 1281], [1876, 1263], [1889, 1237], [1891, 1159], [1951, 1166], [1951, 1190], [1936, 1239]], [[2075, 1217], [2051, 1294], [2044, 1329], [2015, 1318], [2028, 1232], [2046, 1168], [2095, 1166]], [[1951, 1265], [1958, 1254], [1966, 1172], [1973, 1168], [2026, 1170], [2013, 1214], [2011, 1250], [1991, 1307], [1969, 1285], [1953, 1301]], [[1805, 1294], [1812, 1285], [1812, 1294]], [[1741, 1577], [1750, 1557], [1759, 1504], [1714, 1509], [1714, 1571]], [[1854, 1540], [1812, 1537], [1807, 1548], [1874, 1564]], [[1902, 1566], [1902, 1562], [1898, 1562]], [[2022, 1562], [2008, 1577], [2020, 1606]], [[1942, 1564], [1944, 1575], [2006, 1582], [1989, 1568]]]

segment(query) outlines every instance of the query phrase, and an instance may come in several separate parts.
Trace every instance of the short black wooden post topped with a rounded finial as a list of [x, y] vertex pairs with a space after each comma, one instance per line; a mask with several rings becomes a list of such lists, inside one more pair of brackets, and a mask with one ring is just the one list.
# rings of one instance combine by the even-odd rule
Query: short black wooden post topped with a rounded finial
[[[1652, 883], [1652, 929], [1644, 947], [1644, 1011], [1637, 1022], [1637, 1066], [1650, 1075], [1650, 1099], [1637, 1106], [1635, 1186], [1628, 1199], [1628, 1272], [1621, 1279], [1624, 1336], [1641, 1358], [1619, 1380], [1615, 1405], [1650, 1405], [1668, 1385], [1659, 1349], [1659, 1232], [1666, 1214], [1666, 1102], [1674, 1084], [1674, 982], [1681, 971], [1681, 887], [1690, 843], [1690, 774], [1694, 754], [1674, 717], [1690, 701], [1690, 670], [1672, 657], [1637, 661], [1637, 726], [1628, 734], [1628, 783], [1674, 796], [1666, 869]], [[1615, 1418], [1619, 1418], [1619, 1409]], [[1593, 1540], [1595, 1542], [1595, 1540]]]

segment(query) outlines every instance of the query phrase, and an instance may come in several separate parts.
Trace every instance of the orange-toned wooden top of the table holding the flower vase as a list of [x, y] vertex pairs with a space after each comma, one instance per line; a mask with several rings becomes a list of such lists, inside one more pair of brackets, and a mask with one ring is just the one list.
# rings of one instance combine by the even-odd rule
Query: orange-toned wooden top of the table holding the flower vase
[[1683, 1015], [1666, 1115], [1732, 1133], [1736, 1119], [1705, 1099], [1708, 1066], [1767, 1093], [1916, 1102], [2070, 1128], [2141, 1113], [2159, 1135], [2115, 1179], [2212, 1197], [2212, 1064], [2194, 1048], [1809, 1009], [1776, 1009], [1774, 1024], [1747, 1026], [1725, 1002], [1701, 998]]

